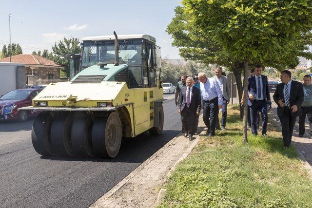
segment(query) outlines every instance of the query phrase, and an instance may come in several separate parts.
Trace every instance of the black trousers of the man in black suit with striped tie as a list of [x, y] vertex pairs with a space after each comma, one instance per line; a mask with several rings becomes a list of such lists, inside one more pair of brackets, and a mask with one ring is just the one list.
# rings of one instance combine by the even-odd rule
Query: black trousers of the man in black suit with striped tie
[[289, 147], [292, 142], [293, 127], [296, 122], [296, 117], [291, 115], [291, 110], [285, 107], [283, 115], [279, 118], [282, 124], [282, 135], [284, 147]]

